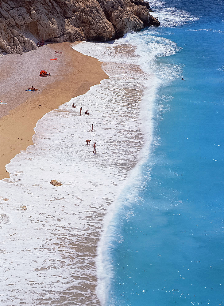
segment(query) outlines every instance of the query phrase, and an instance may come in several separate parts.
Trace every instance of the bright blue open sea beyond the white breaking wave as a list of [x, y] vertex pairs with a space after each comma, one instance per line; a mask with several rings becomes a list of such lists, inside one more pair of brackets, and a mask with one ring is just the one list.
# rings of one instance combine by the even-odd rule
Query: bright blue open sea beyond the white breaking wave
[[224, 2], [167, 0], [164, 8], [199, 19], [141, 31], [146, 42], [153, 31], [182, 48], [156, 64], [180, 66], [185, 80], [160, 88], [155, 103], [172, 99], [155, 114], [159, 145], [114, 220], [110, 306], [224, 304]]

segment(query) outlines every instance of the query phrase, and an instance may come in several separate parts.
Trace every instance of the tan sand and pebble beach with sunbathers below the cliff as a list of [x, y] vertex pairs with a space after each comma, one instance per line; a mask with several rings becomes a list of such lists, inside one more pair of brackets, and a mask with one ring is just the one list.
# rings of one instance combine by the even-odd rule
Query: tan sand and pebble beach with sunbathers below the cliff
[[[82, 95], [108, 78], [101, 63], [71, 48], [71, 43], [49, 44], [22, 55], [0, 58], [0, 179], [9, 177], [5, 166], [32, 144], [37, 121], [71, 98]], [[54, 54], [54, 50], [63, 54]], [[51, 58], [57, 60], [50, 61]], [[44, 69], [51, 73], [39, 77]], [[40, 91], [25, 91], [34, 86]]]

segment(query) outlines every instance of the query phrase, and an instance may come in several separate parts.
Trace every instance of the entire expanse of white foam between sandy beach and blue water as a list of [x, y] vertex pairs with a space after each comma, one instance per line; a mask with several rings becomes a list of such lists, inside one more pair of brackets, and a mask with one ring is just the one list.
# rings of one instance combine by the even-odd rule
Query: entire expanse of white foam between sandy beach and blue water
[[[153, 30], [147, 39], [129, 33], [114, 43], [82, 42], [75, 49], [103, 61], [110, 79], [46, 114], [34, 145], [7, 165], [10, 179], [0, 181], [3, 306], [106, 304], [113, 216], [141, 184], [154, 119], [163, 109], [156, 103], [160, 87], [181, 73], [158, 62], [179, 48]], [[80, 117], [81, 106], [91, 115]], [[63, 185], [50, 185], [52, 179]]]

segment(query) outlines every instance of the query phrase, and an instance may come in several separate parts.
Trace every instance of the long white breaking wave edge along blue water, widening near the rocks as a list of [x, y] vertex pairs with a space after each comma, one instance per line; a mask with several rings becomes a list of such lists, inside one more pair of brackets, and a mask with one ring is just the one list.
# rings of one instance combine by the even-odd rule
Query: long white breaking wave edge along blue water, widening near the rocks
[[[131, 71], [129, 70], [131, 65], [138, 65], [142, 70], [141, 84], [145, 84], [144, 94], [139, 105], [140, 127], [144, 146], [139, 152], [137, 165], [129, 172], [126, 181], [122, 185], [122, 193], [116, 194], [114, 202], [107, 210], [106, 217], [104, 218], [103, 233], [98, 245], [98, 257], [96, 259], [98, 275], [97, 294], [101, 304], [106, 305], [110, 291], [110, 282], [113, 279], [113, 265], [110, 257], [110, 249], [113, 246], [110, 245], [110, 241], [114, 239], [116, 233], [117, 224], [114, 223], [114, 217], [122, 206], [133, 203], [133, 199], [143, 183], [141, 165], [149, 155], [152, 141], [154, 144], [156, 141], [153, 135], [155, 119], [164, 112], [165, 107], [168, 108], [167, 105], [156, 103], [159, 98], [160, 87], [168, 84], [176, 77], [180, 77], [182, 72], [180, 66], [168, 66], [156, 61], [159, 57], [175, 54], [180, 48], [169, 39], [154, 35], [148, 35], [146, 38], [145, 34], [140, 32], [128, 33], [113, 44], [79, 43], [75, 49], [102, 61], [103, 69], [110, 76], [123, 72], [124, 76], [129, 78], [128, 73]], [[130, 49], [134, 50], [134, 56]], [[128, 70], [126, 71], [126, 69]], [[137, 74], [133, 74], [133, 76], [136, 78], [140, 77]], [[168, 99], [172, 99], [172, 97], [166, 97], [166, 99], [164, 97], [165, 104], [167, 104]]]

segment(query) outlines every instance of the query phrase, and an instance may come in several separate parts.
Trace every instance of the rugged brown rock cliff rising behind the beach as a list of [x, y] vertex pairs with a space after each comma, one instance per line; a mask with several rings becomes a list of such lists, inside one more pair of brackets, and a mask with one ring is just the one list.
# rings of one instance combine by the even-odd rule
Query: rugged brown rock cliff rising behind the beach
[[41, 39], [106, 41], [159, 24], [144, 0], [0, 0], [0, 52], [35, 50]]

